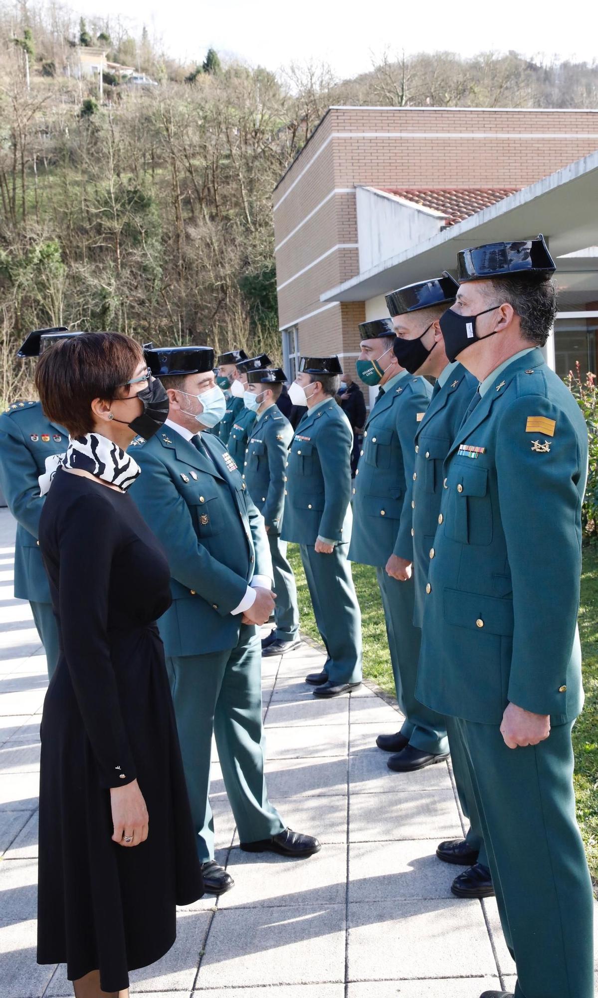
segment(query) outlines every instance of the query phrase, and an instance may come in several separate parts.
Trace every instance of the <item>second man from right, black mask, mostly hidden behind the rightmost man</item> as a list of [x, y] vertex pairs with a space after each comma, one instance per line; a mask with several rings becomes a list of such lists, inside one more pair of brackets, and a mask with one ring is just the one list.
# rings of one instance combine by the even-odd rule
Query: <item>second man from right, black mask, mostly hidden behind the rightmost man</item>
[[[393, 349], [399, 363], [410, 374], [437, 379], [430, 405], [416, 431], [412, 533], [416, 587], [414, 623], [419, 628], [422, 627], [428, 569], [431, 559], [436, 556], [434, 535], [441, 512], [443, 462], [477, 388], [475, 378], [458, 361], [449, 363], [439, 323], [440, 316], [453, 303], [457, 290], [456, 281], [445, 275], [399, 287], [386, 296], [397, 333]], [[464, 749], [454, 719], [446, 717], [445, 725], [454, 781], [470, 827], [464, 839], [441, 842], [437, 856], [445, 862], [469, 867], [455, 877], [451, 887], [453, 894], [488, 897], [493, 894], [492, 881]]]

